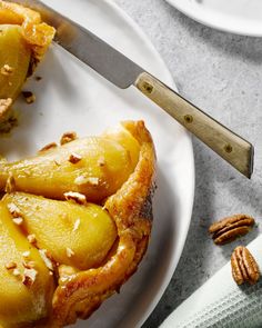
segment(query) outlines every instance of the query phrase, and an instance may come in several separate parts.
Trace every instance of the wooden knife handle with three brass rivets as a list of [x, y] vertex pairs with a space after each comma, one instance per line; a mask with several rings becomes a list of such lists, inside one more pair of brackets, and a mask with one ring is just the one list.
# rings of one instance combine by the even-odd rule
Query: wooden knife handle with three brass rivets
[[153, 76], [143, 72], [135, 87], [241, 173], [251, 177], [253, 146], [190, 103]]

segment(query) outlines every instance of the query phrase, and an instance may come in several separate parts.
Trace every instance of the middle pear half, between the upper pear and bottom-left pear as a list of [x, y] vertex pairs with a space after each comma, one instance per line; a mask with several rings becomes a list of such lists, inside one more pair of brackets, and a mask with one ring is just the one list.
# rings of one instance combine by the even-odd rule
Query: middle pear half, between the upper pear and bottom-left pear
[[117, 238], [114, 221], [98, 205], [80, 206], [22, 192], [6, 195], [3, 202], [19, 208], [24, 229], [59, 264], [82, 270], [99, 266]]

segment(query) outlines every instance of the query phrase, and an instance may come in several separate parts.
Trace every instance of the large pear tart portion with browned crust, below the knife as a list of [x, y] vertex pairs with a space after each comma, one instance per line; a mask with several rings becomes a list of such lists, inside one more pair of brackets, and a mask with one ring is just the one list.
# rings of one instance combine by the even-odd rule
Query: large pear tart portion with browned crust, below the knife
[[0, 162], [4, 328], [88, 318], [119, 291], [148, 247], [155, 156], [144, 123], [62, 143]]

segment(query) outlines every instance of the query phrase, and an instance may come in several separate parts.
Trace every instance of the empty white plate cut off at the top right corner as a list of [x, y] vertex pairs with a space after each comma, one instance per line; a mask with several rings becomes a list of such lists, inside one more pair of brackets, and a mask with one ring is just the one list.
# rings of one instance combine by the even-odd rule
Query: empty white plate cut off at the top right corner
[[209, 27], [243, 36], [262, 36], [261, 0], [167, 0]]

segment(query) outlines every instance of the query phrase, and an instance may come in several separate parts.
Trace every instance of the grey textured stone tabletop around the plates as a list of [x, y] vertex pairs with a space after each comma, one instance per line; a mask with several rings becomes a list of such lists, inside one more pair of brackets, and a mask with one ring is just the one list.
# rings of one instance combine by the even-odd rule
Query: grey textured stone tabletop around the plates
[[144, 30], [165, 60], [180, 92], [239, 132], [255, 147], [249, 181], [198, 140], [195, 200], [183, 255], [172, 281], [144, 328], [164, 318], [230, 258], [240, 241], [215, 247], [206, 230], [235, 212], [262, 219], [262, 39], [226, 34], [203, 27], [164, 0], [115, 0]]

